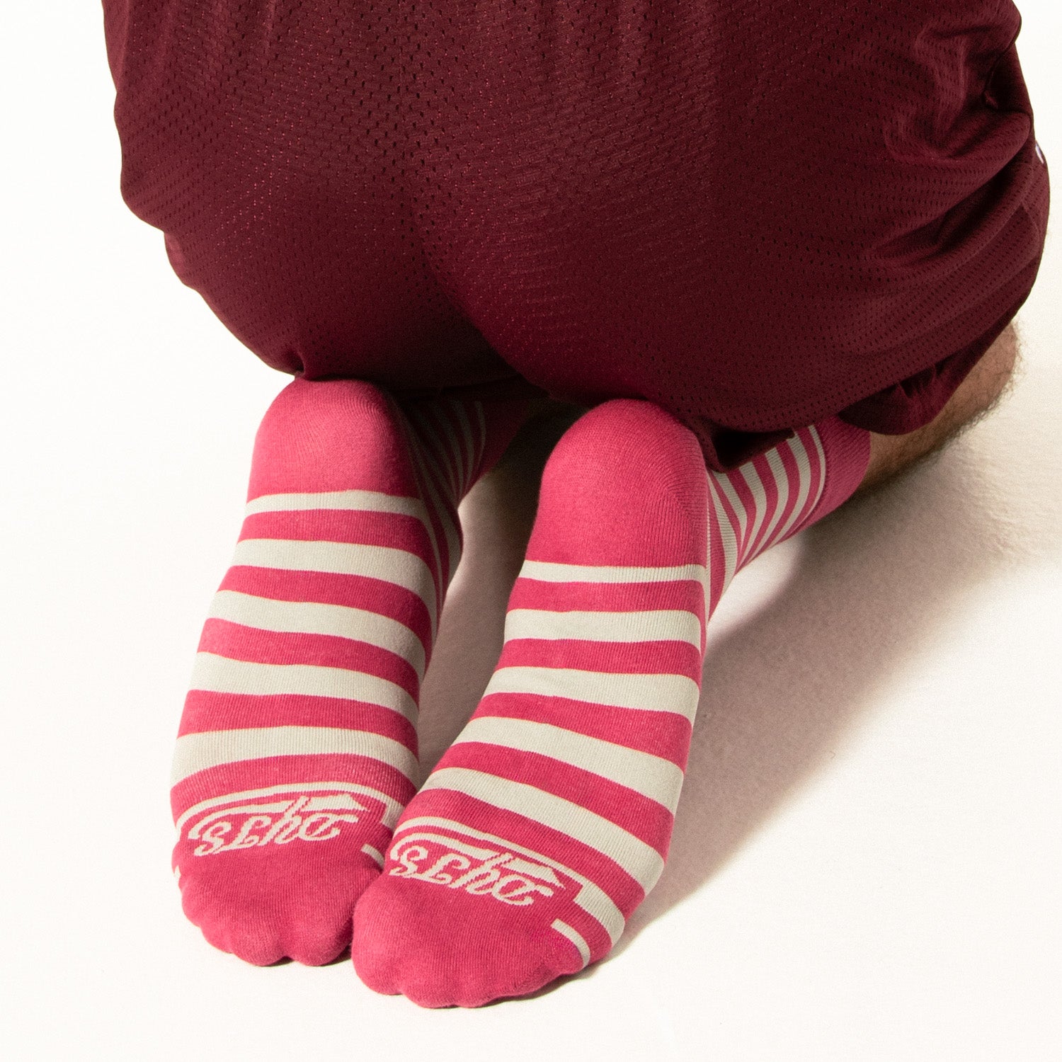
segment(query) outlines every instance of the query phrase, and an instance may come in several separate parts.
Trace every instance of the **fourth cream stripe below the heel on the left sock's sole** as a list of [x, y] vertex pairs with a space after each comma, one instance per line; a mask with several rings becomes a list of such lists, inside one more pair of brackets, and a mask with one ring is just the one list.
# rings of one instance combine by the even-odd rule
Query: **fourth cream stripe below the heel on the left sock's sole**
[[196, 653], [192, 689], [255, 696], [291, 693], [365, 701], [416, 720], [416, 702], [401, 686], [375, 674], [316, 664], [256, 664], [217, 653]]

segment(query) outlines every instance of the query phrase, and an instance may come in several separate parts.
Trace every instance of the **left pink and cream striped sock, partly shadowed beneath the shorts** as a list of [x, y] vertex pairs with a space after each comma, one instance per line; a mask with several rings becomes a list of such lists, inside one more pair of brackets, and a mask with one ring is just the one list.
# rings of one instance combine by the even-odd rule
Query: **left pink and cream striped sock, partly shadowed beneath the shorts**
[[173, 763], [174, 872], [217, 947], [316, 964], [349, 943], [418, 781], [457, 506], [525, 406], [296, 379], [267, 412]]

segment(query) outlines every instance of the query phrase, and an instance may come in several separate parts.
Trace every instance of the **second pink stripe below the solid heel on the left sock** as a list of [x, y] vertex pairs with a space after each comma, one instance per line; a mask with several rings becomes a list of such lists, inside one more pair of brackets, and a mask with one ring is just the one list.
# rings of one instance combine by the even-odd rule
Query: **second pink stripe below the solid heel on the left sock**
[[405, 623], [431, 649], [431, 619], [425, 603], [412, 590], [367, 576], [333, 576], [323, 571], [287, 571], [234, 565], [225, 572], [223, 590], [237, 590], [271, 601], [299, 601], [365, 609]]

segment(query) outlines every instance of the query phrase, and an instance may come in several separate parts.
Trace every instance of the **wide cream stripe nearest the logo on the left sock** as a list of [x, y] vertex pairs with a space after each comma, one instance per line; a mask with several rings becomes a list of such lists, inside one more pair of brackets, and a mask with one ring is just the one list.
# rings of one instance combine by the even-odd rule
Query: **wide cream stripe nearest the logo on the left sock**
[[[244, 759], [331, 755], [370, 756], [401, 771], [416, 784], [416, 756], [401, 742], [369, 731], [335, 726], [258, 726], [185, 734], [177, 738], [170, 784], [175, 786], [198, 771]], [[288, 786], [297, 787], [298, 783]]]

